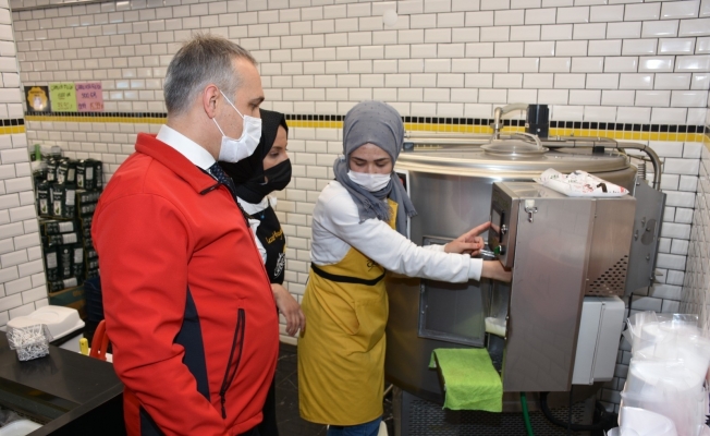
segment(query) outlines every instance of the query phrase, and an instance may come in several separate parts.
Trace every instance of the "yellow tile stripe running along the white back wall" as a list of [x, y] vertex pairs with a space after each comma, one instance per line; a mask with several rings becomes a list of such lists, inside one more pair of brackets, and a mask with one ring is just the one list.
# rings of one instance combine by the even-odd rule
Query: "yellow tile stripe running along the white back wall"
[[[75, 116], [26, 116], [26, 121], [56, 121], [56, 122], [103, 122], [103, 123], [133, 123], [133, 124], [164, 124], [166, 118], [133, 118], [133, 117], [75, 117]], [[320, 120], [287, 120], [290, 128], [307, 129], [342, 129], [342, 121]], [[24, 126], [0, 128], [0, 134], [22, 133]], [[8, 130], [19, 131], [8, 131]], [[490, 135], [493, 130], [488, 125], [468, 124], [439, 124], [439, 123], [404, 123], [404, 129], [411, 132], [438, 132], [438, 133], [478, 133]], [[503, 133], [524, 132], [522, 126], [503, 128]], [[668, 133], [668, 132], [635, 132], [595, 129], [550, 129], [550, 136], [582, 136], [608, 137], [624, 141], [666, 141], [666, 142], [707, 142], [710, 141], [702, 133]]]

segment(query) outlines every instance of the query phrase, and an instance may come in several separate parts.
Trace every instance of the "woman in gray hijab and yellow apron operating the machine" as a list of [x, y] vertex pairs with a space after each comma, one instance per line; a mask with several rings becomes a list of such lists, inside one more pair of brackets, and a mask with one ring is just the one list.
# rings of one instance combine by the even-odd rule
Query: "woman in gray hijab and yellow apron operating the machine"
[[[364, 101], [345, 116], [343, 157], [313, 215], [311, 270], [298, 342], [301, 415], [329, 424], [328, 436], [378, 434], [384, 386], [385, 270], [465, 282], [510, 281], [498, 261], [472, 258], [481, 225], [446, 245], [420, 247], [406, 238], [416, 215], [393, 168], [404, 125], [397, 111]], [[465, 254], [463, 254], [465, 253]]]

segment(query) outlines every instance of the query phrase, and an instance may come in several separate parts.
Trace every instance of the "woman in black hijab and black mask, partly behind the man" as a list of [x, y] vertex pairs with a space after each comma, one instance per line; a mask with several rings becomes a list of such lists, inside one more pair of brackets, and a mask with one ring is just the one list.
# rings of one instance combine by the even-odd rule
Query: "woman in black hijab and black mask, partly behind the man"
[[[286, 332], [295, 336], [305, 327], [306, 318], [296, 300], [282, 286], [285, 270], [286, 240], [273, 211], [276, 198], [268, 195], [281, 191], [291, 181], [291, 160], [286, 154], [289, 126], [283, 113], [261, 109], [261, 140], [256, 150], [236, 164], [220, 162], [236, 185], [237, 201], [249, 215], [257, 246], [271, 281], [279, 312], [286, 318]], [[278, 436], [276, 388], [273, 380], [264, 404], [261, 436]]]

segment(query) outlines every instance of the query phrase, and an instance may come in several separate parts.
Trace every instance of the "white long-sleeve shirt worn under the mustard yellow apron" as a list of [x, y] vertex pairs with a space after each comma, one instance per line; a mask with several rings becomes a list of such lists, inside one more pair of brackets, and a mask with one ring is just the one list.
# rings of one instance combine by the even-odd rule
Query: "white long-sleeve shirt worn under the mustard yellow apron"
[[451, 282], [480, 280], [482, 259], [444, 253], [443, 245], [418, 246], [379, 219], [359, 221], [347, 190], [330, 182], [314, 209], [310, 261], [332, 265], [353, 246], [389, 271]]

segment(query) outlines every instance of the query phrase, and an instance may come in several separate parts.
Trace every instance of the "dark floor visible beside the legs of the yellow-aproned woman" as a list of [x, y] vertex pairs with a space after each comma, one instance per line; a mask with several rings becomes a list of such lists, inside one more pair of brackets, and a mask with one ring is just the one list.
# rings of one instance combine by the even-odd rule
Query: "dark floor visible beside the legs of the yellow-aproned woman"
[[[297, 361], [296, 348], [282, 343], [276, 375], [279, 434], [280, 436], [325, 436], [325, 425], [309, 423], [298, 415]], [[384, 422], [388, 426], [388, 433], [394, 435], [392, 428], [392, 407], [389, 397], [384, 400]]]

